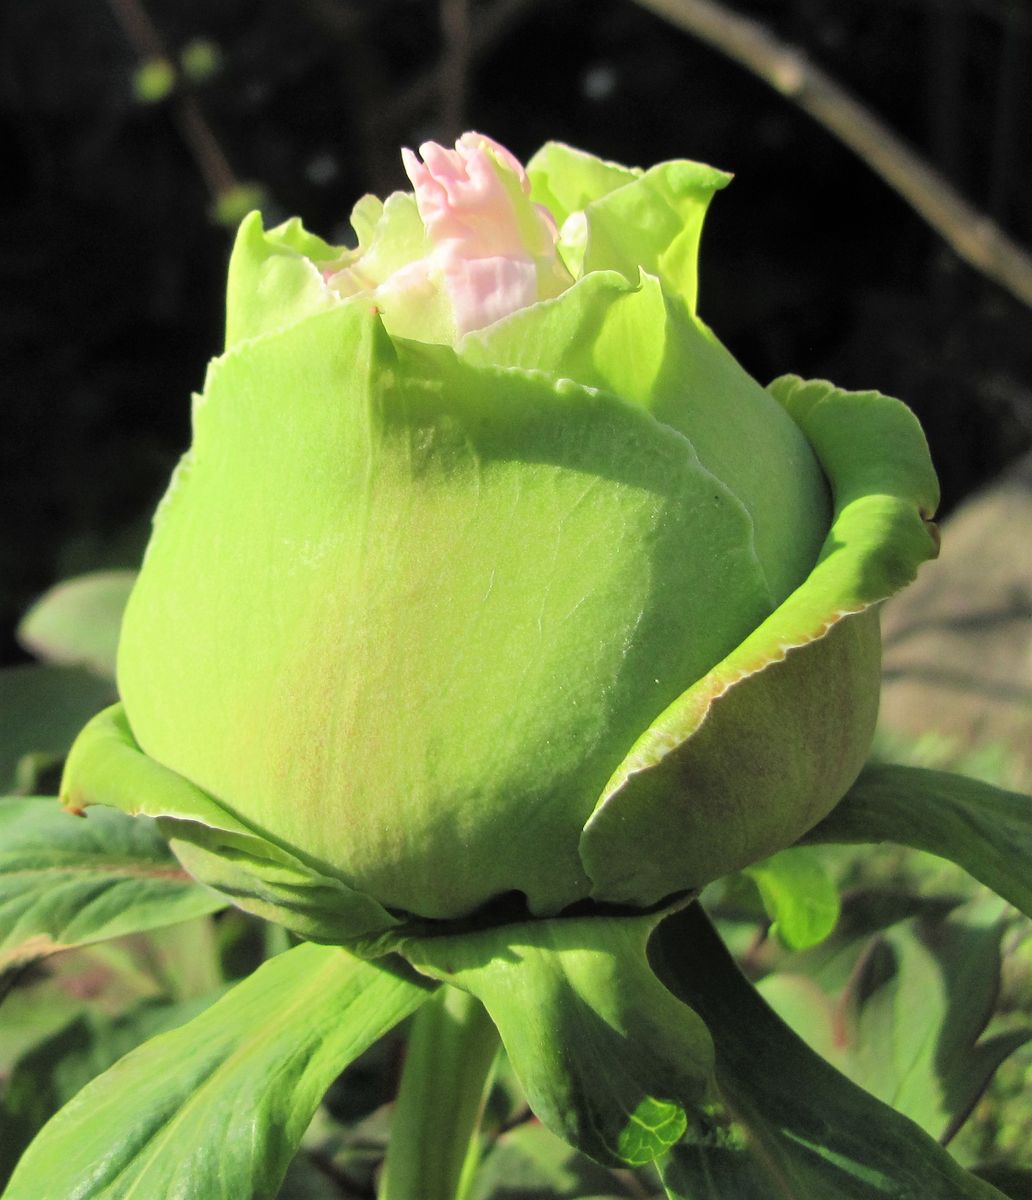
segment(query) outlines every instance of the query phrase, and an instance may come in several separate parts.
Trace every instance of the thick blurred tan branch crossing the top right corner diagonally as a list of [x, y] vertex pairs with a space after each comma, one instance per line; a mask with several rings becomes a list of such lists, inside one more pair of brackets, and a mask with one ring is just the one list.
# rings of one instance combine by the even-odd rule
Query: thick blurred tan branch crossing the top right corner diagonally
[[1032, 306], [1032, 256], [830, 76], [714, 0], [636, 0], [746, 67], [834, 133], [966, 263]]

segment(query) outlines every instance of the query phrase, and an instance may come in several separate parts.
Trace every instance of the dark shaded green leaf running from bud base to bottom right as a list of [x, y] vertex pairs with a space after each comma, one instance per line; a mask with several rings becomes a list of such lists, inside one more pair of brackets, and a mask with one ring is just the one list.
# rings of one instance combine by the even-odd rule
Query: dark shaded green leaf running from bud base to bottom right
[[814, 1054], [739, 973], [698, 905], [660, 926], [653, 959], [716, 1045], [732, 1123], [662, 1164], [673, 1200], [1000, 1200], [913, 1122]]

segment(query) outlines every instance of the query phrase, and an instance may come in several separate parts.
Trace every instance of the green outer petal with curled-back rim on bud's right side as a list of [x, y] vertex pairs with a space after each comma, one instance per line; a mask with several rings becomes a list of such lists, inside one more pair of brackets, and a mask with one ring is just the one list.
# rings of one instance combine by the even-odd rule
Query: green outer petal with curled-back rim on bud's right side
[[[913, 414], [877, 392], [786, 377], [772, 385], [835, 497], [810, 577], [655, 721], [620, 764], [581, 841], [599, 899], [650, 904], [791, 844], [856, 779], [878, 691], [872, 606], [937, 540]], [[634, 845], [634, 853], [629, 846]]]

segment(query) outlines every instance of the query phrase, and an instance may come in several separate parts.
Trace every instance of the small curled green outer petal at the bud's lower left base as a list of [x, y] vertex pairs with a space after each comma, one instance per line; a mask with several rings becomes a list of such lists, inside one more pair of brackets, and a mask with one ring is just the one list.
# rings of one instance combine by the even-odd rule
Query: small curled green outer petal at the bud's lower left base
[[314, 942], [343, 944], [396, 928], [374, 900], [266, 841], [217, 800], [149, 758], [121, 704], [98, 713], [76, 739], [61, 781], [73, 811], [107, 804], [157, 817], [194, 878], [233, 904]]

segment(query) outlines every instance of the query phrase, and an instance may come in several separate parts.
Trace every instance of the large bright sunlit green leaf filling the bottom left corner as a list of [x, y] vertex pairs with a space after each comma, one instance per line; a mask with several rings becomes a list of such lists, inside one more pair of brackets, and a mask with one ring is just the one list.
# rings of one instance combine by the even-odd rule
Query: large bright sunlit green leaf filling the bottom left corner
[[298, 946], [84, 1087], [4, 1200], [271, 1200], [336, 1075], [426, 996], [400, 965]]

